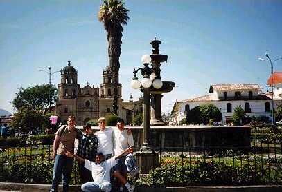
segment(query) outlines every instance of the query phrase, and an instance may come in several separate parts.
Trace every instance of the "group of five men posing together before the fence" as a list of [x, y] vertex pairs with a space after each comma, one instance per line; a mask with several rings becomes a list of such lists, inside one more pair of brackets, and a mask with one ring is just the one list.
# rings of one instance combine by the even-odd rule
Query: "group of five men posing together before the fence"
[[[111, 177], [121, 182], [121, 189], [134, 191], [134, 185], [127, 182], [127, 172], [138, 175], [138, 168], [132, 155], [134, 140], [130, 129], [118, 119], [117, 128], [105, 126], [105, 118], [98, 119], [100, 131], [93, 133], [91, 125], [76, 129], [76, 118], [68, 117], [67, 126], [61, 126], [55, 133], [53, 144], [53, 182], [50, 191], [58, 191], [62, 178], [63, 191], [68, 191], [73, 160], [78, 160], [78, 171], [82, 191], [111, 191]], [[74, 141], [78, 139], [75, 151]]]

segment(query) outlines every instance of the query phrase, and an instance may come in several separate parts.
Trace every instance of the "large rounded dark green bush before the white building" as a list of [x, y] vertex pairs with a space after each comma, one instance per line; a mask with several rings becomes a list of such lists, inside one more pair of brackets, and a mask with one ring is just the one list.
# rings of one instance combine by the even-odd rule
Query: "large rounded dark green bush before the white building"
[[213, 104], [203, 104], [188, 111], [186, 121], [189, 124], [209, 124], [210, 119], [220, 122], [222, 120], [221, 112]]

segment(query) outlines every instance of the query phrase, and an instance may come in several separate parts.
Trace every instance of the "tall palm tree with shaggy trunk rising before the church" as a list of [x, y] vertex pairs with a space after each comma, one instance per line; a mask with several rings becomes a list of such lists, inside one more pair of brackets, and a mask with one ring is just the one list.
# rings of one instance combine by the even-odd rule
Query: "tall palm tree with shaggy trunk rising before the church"
[[123, 25], [127, 24], [130, 19], [127, 15], [122, 0], [105, 0], [98, 12], [98, 19], [104, 23], [107, 32], [107, 41], [109, 43], [108, 55], [109, 66], [112, 71], [112, 79], [114, 82], [114, 115], [118, 115], [118, 70], [120, 67], [119, 56], [121, 55], [121, 37], [123, 37]]

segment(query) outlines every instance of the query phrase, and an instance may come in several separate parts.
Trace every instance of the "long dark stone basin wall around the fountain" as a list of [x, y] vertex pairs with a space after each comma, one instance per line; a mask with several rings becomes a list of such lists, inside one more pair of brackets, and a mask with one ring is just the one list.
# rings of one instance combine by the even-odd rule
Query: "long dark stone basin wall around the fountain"
[[[132, 130], [136, 149], [139, 149], [143, 143], [143, 127], [128, 128]], [[218, 147], [248, 149], [250, 136], [251, 128], [248, 126], [152, 126], [150, 131], [152, 146], [176, 151], [201, 151]]]

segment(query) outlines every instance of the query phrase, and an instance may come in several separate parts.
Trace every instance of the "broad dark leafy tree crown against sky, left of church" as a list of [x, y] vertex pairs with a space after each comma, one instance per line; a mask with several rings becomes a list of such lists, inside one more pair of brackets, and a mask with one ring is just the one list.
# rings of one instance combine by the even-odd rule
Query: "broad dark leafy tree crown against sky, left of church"
[[54, 104], [57, 99], [57, 88], [49, 84], [42, 84], [41, 86], [33, 86], [28, 88], [19, 88], [19, 92], [16, 93], [15, 99], [12, 101], [12, 105], [19, 110], [20, 108], [33, 108], [44, 109], [44, 113], [49, 106]]

